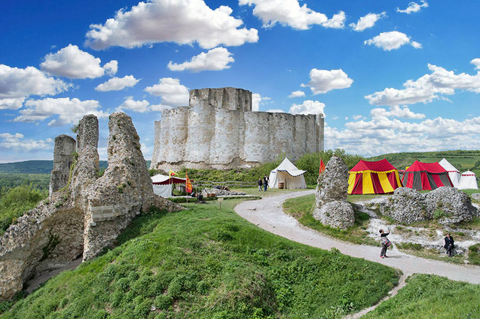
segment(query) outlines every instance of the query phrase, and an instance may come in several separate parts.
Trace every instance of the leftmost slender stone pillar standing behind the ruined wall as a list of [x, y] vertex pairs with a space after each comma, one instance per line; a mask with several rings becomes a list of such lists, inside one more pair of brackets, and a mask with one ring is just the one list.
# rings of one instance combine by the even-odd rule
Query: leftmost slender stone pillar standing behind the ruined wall
[[53, 169], [50, 175], [49, 195], [67, 186], [70, 175], [70, 167], [73, 163], [73, 154], [77, 149], [77, 143], [68, 135], [59, 135], [55, 138], [53, 149]]

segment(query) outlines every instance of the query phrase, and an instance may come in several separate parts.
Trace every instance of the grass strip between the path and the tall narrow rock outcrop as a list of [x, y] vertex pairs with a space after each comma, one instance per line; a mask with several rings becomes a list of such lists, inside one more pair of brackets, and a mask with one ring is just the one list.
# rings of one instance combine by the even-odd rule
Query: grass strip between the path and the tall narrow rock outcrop
[[348, 228], [346, 231], [341, 231], [315, 220], [312, 215], [313, 204], [315, 204], [315, 194], [285, 200], [283, 208], [285, 209], [285, 213], [295, 217], [300, 224], [315, 229], [315, 231], [319, 231], [320, 233], [344, 241], [350, 241], [354, 244], [380, 246], [379, 241], [376, 241], [372, 237], [368, 237], [366, 228], [370, 216], [367, 213], [355, 211], [355, 225]]

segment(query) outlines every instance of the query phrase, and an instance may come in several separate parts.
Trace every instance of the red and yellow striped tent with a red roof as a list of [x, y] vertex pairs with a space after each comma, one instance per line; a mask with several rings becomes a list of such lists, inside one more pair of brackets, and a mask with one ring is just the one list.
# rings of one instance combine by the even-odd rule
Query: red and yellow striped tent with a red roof
[[386, 158], [376, 162], [360, 160], [349, 173], [349, 194], [393, 193], [395, 189], [402, 186], [398, 169]]

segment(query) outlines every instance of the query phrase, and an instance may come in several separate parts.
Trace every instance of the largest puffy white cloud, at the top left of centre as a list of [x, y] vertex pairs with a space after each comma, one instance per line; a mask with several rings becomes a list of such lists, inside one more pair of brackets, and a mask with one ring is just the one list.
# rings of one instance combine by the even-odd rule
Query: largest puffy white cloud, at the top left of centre
[[106, 49], [197, 42], [200, 47], [211, 49], [221, 44], [243, 45], [259, 40], [256, 29], [241, 27], [243, 21], [230, 14], [230, 7], [221, 5], [211, 10], [203, 0], [140, 2], [131, 10], [117, 11], [115, 18], [104, 24], [90, 25], [85, 44], [93, 49]]

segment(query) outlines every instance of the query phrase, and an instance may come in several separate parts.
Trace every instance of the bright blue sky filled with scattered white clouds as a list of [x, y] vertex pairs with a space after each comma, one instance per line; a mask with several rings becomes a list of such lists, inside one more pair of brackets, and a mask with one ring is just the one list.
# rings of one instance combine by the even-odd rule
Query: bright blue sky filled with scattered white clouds
[[[0, 162], [51, 159], [83, 115], [123, 110], [145, 158], [161, 110], [234, 86], [260, 111], [324, 113], [326, 148], [480, 149], [477, 1], [10, 1]], [[121, 10], [121, 11], [119, 11]]]

